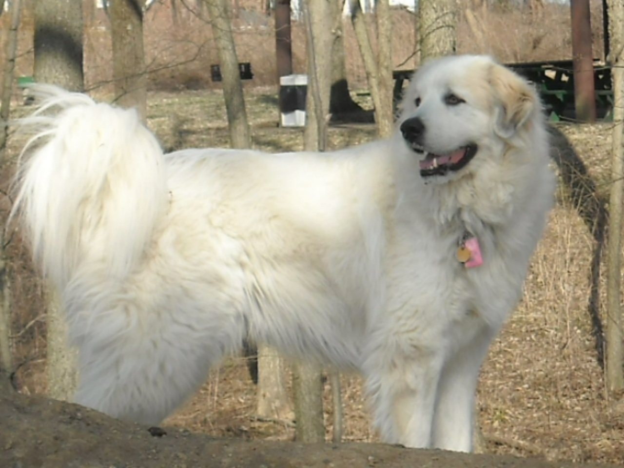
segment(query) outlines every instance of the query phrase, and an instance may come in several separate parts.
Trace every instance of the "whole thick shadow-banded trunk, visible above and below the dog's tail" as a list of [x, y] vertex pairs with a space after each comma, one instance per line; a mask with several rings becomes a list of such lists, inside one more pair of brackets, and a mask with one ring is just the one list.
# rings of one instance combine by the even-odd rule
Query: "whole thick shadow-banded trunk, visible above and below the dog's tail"
[[[35, 2], [34, 78], [82, 91], [82, 2]], [[47, 378], [50, 395], [71, 399], [78, 380], [77, 353], [67, 345], [66, 319], [58, 298], [48, 295]]]

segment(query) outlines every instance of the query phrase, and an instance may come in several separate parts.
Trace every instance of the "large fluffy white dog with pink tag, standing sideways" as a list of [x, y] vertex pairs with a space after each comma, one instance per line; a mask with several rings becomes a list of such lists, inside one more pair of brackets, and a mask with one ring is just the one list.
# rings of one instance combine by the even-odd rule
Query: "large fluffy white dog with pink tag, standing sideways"
[[424, 65], [386, 140], [163, 154], [135, 110], [35, 85], [14, 215], [62, 294], [76, 402], [157, 424], [245, 339], [355, 369], [374, 426], [472, 448], [480, 365], [553, 203], [533, 87]]

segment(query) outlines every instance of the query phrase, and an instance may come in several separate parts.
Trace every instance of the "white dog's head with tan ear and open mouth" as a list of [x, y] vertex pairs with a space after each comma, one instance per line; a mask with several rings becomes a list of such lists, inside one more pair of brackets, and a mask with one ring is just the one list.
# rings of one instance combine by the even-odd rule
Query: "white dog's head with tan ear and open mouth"
[[487, 56], [453, 56], [414, 75], [399, 129], [420, 158], [421, 176], [446, 182], [504, 154], [539, 114], [537, 94], [522, 77]]

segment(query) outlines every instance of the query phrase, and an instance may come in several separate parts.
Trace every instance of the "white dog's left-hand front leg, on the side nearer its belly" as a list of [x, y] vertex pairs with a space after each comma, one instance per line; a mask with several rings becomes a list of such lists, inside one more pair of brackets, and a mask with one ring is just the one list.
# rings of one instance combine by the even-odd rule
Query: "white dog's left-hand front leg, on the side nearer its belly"
[[432, 444], [432, 425], [442, 357], [419, 356], [392, 362], [368, 376], [373, 404], [373, 424], [384, 442], [427, 448]]

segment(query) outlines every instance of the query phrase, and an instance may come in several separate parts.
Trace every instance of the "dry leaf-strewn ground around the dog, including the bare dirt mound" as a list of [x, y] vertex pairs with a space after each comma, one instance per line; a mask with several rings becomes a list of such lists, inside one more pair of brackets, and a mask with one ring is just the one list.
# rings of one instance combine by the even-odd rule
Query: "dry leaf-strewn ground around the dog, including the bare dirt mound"
[[[149, 125], [168, 150], [227, 146], [222, 99], [218, 92], [154, 93]], [[302, 148], [301, 130], [277, 126], [274, 90], [255, 90], [246, 99], [256, 148]], [[356, 99], [369, 105], [366, 95], [356, 94]], [[17, 115], [26, 111], [16, 108]], [[361, 379], [354, 374], [341, 376], [346, 443], [337, 448], [295, 444], [292, 421], [255, 417], [256, 388], [245, 359], [238, 356], [214, 369], [197, 394], [163, 422], [165, 437], [35, 397], [46, 391], [42, 288], [16, 243], [9, 250], [20, 394], [0, 398], [0, 467], [624, 466], [624, 403], [622, 396], [605, 391], [601, 367], [605, 276], [603, 262], [595, 262], [600, 242], [588, 228], [608, 199], [610, 125], [558, 124], [557, 129], [559, 144], [573, 145], [577, 165], [568, 166], [571, 178], [561, 179], [524, 297], [482, 369], [477, 409], [490, 456], [467, 458], [376, 444]], [[329, 137], [332, 148], [358, 144], [374, 137], [374, 127], [336, 124]], [[19, 137], [12, 140], [12, 155], [20, 144]], [[4, 167], [7, 172], [10, 165]], [[570, 180], [582, 190], [571, 187]], [[588, 205], [598, 208], [588, 210]], [[331, 406], [328, 379], [328, 440]]]

